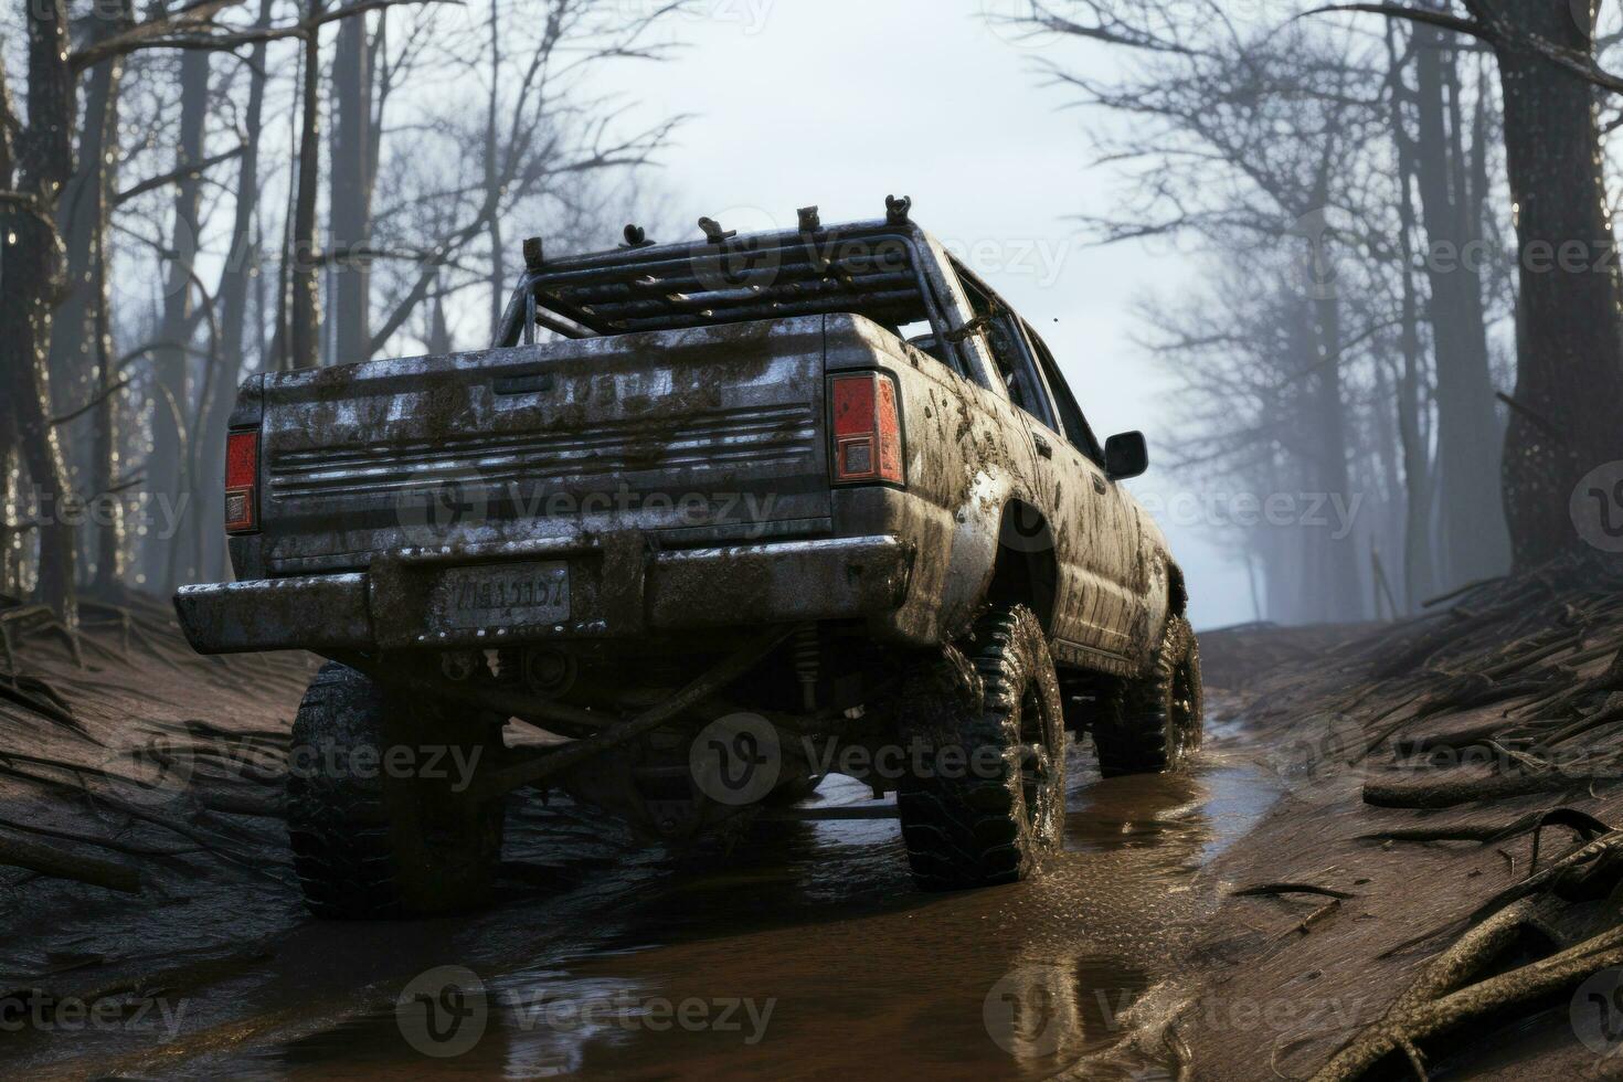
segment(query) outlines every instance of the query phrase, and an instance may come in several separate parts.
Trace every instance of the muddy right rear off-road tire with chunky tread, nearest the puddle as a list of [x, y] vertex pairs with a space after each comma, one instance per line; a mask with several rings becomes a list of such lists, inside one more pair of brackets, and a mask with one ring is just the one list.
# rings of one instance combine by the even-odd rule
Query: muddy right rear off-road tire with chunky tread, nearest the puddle
[[896, 795], [907, 863], [925, 891], [1026, 879], [1065, 834], [1065, 715], [1042, 625], [1021, 605], [993, 612], [962, 659], [922, 665], [904, 693], [901, 730], [932, 751], [922, 761], [946, 766], [943, 748], [967, 759], [933, 777], [909, 769]]

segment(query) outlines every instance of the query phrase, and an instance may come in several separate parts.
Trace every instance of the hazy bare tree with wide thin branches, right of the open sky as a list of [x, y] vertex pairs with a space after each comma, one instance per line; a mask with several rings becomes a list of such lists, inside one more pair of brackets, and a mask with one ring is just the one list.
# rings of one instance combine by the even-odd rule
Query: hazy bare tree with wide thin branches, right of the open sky
[[[1352, 344], [1367, 342], [1371, 329], [1349, 324], [1350, 302], [1365, 284], [1350, 276], [1347, 260], [1367, 264], [1378, 230], [1367, 227], [1365, 177], [1347, 162], [1384, 131], [1378, 63], [1300, 24], [1238, 26], [1209, 0], [1084, 2], [1068, 5], [1063, 16], [1045, 8], [1039, 19], [1131, 58], [1126, 75], [1109, 78], [1050, 67], [1083, 102], [1126, 118], [1100, 135], [1102, 157], [1131, 175], [1120, 209], [1084, 219], [1100, 240], [1191, 235], [1230, 261], [1261, 248], [1264, 264], [1294, 253], [1295, 273], [1285, 282], [1297, 302], [1279, 300], [1271, 323], [1282, 346], [1271, 357], [1285, 365], [1276, 371], [1292, 394], [1279, 401], [1297, 410], [1300, 438], [1274, 448], [1294, 459], [1289, 469], [1277, 454], [1258, 459], [1271, 477], [1259, 480], [1350, 503], [1350, 462], [1362, 451], [1350, 417]], [[1180, 331], [1201, 337], [1199, 328]], [[1365, 612], [1354, 542], [1311, 530], [1298, 532], [1297, 542], [1300, 584], [1292, 592], [1323, 599], [1323, 608], [1308, 615]]]

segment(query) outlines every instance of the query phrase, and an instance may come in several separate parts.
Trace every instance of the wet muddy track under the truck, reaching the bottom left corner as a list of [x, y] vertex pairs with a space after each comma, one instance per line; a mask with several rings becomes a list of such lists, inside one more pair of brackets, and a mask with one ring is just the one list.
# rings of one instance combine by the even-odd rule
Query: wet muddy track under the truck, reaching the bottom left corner
[[[0, 1058], [32, 1077], [1172, 1077], [1172, 1050], [1112, 1050], [1277, 779], [1229, 720], [1186, 775], [1102, 780], [1073, 746], [1070, 790], [1044, 876], [956, 895], [914, 889], [893, 819], [670, 853], [514, 801], [493, 908], [364, 925], [307, 917], [279, 824], [230, 816], [237, 863], [135, 904], [6, 887]], [[868, 801], [831, 777], [805, 806]]]

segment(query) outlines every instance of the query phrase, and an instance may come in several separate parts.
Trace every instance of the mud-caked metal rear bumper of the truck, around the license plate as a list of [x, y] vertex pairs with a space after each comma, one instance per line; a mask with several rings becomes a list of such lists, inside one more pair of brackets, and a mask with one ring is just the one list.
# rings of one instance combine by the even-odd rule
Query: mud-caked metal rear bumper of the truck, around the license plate
[[[433, 586], [446, 571], [524, 561], [570, 565], [565, 621], [466, 628], [435, 613]], [[639, 535], [492, 552], [407, 550], [373, 560], [367, 573], [185, 586], [175, 612], [201, 654], [490, 647], [883, 616], [906, 602], [912, 561], [914, 547], [888, 535], [651, 555]]]

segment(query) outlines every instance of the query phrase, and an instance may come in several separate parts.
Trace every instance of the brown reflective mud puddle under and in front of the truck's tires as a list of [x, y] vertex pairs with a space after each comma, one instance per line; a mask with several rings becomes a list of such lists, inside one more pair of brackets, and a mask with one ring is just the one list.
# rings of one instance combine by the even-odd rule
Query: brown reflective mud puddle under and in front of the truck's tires
[[[195, 1046], [182, 1072], [357, 1077], [1048, 1077], [1120, 1043], [1211, 912], [1201, 869], [1277, 795], [1214, 727], [1186, 775], [1100, 780], [1073, 749], [1066, 847], [1039, 879], [922, 895], [894, 821], [763, 824], [725, 857], [588, 853], [583, 886], [391, 938], [388, 973], [278, 1032]], [[812, 803], [857, 805], [829, 779]], [[516, 847], [537, 844], [519, 813]], [[549, 831], [555, 832], [557, 824]], [[591, 848], [588, 844], [586, 848]], [[560, 873], [563, 874], [563, 873]], [[282, 949], [276, 967], [328, 949]], [[329, 967], [333, 968], [333, 967]], [[274, 983], [274, 981], [273, 981]], [[289, 986], [242, 1006], [286, 1012]], [[278, 1003], [281, 999], [281, 1003]], [[406, 1007], [398, 1003], [404, 999]], [[329, 1006], [323, 1007], [321, 1001]], [[297, 1007], [294, 1007], [297, 1011]], [[187, 1038], [180, 1038], [187, 1043]], [[203, 1045], [208, 1040], [203, 1038]], [[1089, 1077], [1157, 1077], [1126, 1058]]]

